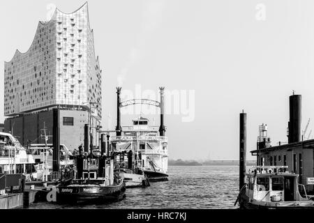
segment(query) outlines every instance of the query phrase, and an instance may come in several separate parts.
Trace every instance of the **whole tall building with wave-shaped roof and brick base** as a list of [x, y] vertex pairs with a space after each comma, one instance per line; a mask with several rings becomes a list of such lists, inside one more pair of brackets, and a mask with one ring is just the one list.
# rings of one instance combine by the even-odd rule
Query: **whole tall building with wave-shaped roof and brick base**
[[[96, 110], [94, 126], [100, 125], [101, 73], [88, 3], [73, 13], [57, 8], [50, 21], [38, 23], [29, 50], [17, 50], [13, 59], [5, 62], [4, 115], [9, 117], [5, 130], [15, 130], [21, 143], [27, 144], [27, 140], [40, 135], [43, 122], [52, 128], [51, 109], [59, 107], [61, 136], [80, 131], [75, 132], [77, 138], [61, 137], [61, 143], [77, 146], [84, 141], [84, 124], [89, 123], [91, 103]], [[27, 125], [36, 130], [27, 129]], [[40, 139], [36, 142], [40, 143]]]

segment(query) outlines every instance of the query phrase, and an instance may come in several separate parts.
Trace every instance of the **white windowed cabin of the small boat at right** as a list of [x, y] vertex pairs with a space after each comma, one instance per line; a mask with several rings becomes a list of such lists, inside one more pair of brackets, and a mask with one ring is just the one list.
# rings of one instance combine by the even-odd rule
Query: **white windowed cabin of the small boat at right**
[[246, 174], [246, 194], [256, 201], [281, 202], [300, 201], [298, 175], [287, 171], [287, 167], [253, 167]]

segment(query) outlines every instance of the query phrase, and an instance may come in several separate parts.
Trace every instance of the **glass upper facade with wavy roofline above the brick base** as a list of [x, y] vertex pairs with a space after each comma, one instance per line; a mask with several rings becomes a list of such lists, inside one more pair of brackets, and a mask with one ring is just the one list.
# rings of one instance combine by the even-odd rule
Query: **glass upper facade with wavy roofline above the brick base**
[[70, 14], [56, 9], [49, 22], [39, 22], [29, 50], [5, 63], [4, 77], [5, 116], [97, 102], [101, 118], [101, 70], [88, 4]]

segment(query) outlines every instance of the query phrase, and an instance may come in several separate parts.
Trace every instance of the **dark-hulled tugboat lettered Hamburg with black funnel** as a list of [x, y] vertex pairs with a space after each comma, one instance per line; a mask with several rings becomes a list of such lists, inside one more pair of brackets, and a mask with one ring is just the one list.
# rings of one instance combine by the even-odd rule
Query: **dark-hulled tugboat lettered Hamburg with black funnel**
[[[94, 155], [98, 155], [94, 153]], [[114, 161], [98, 157], [96, 164], [90, 164], [92, 155], [77, 157], [76, 179], [68, 179], [57, 186], [57, 202], [59, 203], [89, 203], [119, 201], [124, 199], [126, 185], [124, 179], [114, 175]], [[85, 167], [85, 168], [84, 168]]]

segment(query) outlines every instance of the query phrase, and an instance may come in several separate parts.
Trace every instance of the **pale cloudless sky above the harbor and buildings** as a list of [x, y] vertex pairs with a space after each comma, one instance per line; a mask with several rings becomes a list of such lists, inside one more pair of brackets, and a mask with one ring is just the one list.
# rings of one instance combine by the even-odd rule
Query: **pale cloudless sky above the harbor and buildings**
[[[72, 13], [84, 1], [0, 1], [2, 92], [3, 62], [15, 49], [29, 49], [50, 3]], [[264, 21], [255, 19], [258, 3], [266, 6]], [[195, 90], [195, 121], [166, 116], [170, 158], [237, 158], [242, 109], [248, 113], [248, 151], [255, 149], [262, 123], [273, 145], [287, 141], [292, 90], [303, 97], [302, 129], [314, 119], [314, 1], [92, 0], [89, 14], [103, 69], [105, 126], [108, 112], [112, 128], [116, 122], [118, 77], [132, 91], [135, 84]]]

